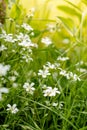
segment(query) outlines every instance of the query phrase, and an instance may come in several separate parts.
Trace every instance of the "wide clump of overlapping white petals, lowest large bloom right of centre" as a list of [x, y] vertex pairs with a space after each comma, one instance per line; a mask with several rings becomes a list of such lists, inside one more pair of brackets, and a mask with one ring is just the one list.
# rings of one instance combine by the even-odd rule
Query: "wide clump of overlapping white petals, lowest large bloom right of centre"
[[60, 91], [58, 91], [58, 88], [53, 88], [52, 87], [47, 87], [45, 90], [43, 90], [43, 93], [44, 93], [44, 97], [53, 97], [53, 96], [56, 96], [56, 94], [60, 94]]

